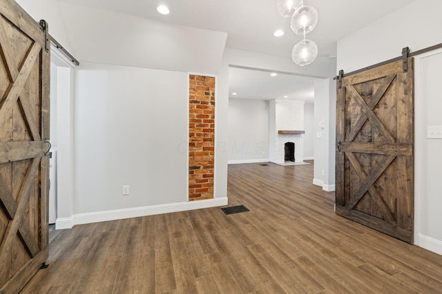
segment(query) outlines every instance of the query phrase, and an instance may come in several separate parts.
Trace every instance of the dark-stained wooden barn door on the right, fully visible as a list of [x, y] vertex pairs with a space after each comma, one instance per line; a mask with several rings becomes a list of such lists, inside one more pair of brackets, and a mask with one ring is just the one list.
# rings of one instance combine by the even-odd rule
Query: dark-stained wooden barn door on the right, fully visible
[[336, 213], [413, 242], [413, 59], [346, 76], [337, 91]]

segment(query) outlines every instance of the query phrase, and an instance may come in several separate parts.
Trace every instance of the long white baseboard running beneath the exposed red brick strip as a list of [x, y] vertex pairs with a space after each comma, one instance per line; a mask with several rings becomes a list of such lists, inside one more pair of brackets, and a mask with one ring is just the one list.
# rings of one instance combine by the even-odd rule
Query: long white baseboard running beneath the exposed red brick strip
[[122, 220], [124, 218], [139, 218], [140, 216], [153, 216], [155, 214], [172, 213], [177, 211], [220, 207], [227, 204], [227, 197], [221, 197], [208, 200], [152, 205], [148, 207], [134, 207], [129, 209], [80, 213], [74, 215], [73, 219], [74, 224], [90, 224], [93, 222], [107, 222], [109, 220]]

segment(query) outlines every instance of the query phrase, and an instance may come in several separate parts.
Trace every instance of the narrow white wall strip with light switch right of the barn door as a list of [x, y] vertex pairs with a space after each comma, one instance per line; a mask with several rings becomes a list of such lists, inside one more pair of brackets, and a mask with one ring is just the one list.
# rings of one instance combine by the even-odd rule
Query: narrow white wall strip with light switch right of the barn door
[[427, 138], [427, 127], [442, 126], [442, 49], [416, 57], [415, 242], [442, 255], [442, 139]]

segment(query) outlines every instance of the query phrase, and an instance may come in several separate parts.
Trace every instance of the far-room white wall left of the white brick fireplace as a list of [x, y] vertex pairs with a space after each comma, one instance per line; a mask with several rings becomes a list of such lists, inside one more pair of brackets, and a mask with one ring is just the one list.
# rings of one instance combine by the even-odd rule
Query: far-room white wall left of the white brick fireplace
[[269, 161], [269, 102], [229, 99], [229, 163]]

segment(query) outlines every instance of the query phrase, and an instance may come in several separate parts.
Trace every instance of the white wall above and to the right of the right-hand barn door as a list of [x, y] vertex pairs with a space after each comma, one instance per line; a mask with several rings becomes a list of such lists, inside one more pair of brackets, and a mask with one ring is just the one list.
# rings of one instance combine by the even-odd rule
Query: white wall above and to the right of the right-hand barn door
[[[338, 66], [351, 72], [392, 59], [408, 46], [412, 51], [442, 43], [442, 1], [416, 0], [387, 17], [338, 41]], [[419, 25], [412, 25], [419, 23]], [[406, 29], [404, 29], [406, 28]], [[367, 46], [367, 40], [371, 44]], [[434, 54], [434, 52], [433, 52]], [[416, 56], [415, 105], [415, 237], [414, 242], [442, 254], [442, 174], [439, 140], [427, 140], [427, 125], [441, 125], [440, 56]]]

